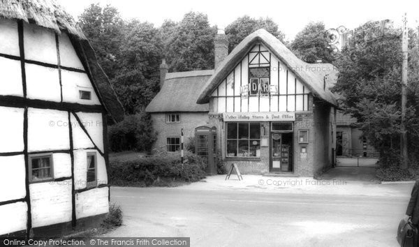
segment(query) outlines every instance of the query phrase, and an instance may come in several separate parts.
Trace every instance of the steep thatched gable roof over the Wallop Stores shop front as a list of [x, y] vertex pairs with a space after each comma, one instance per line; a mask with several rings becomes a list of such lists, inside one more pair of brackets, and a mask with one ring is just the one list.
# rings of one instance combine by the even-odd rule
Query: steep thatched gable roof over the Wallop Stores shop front
[[[244, 38], [242, 42], [224, 59], [224, 61], [215, 70], [214, 75], [208, 80], [200, 92], [197, 103], [208, 103], [212, 91], [218, 87], [222, 80], [233, 70], [236, 64], [244, 57], [256, 43], [262, 43], [270, 50], [280, 61], [291, 70], [295, 76], [310, 89], [314, 96], [325, 100], [326, 102], [337, 105], [336, 97], [328, 90], [327, 85], [334, 82], [337, 69], [328, 63], [306, 63], [298, 59], [291, 50], [281, 43], [277, 38], [268, 33], [265, 29], [259, 29]], [[330, 75], [329, 75], [330, 74]], [[325, 78], [325, 75], [328, 75]], [[326, 82], [326, 88], [324, 84]]]

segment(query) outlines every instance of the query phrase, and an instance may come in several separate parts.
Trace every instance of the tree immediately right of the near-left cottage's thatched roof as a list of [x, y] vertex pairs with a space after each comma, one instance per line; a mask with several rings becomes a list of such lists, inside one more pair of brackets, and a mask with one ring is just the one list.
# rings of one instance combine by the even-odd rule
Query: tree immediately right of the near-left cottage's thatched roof
[[98, 63], [108, 77], [115, 77], [124, 30], [124, 21], [117, 8], [110, 5], [102, 8], [98, 3], [91, 4], [80, 15], [78, 24], [94, 48]]

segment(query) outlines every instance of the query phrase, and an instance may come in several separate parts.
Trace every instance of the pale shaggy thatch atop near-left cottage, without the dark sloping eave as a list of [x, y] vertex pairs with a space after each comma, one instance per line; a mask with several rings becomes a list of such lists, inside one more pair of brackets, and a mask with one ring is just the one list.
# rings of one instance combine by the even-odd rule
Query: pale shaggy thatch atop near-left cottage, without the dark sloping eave
[[0, 17], [35, 22], [57, 33], [67, 31], [80, 39], [86, 39], [73, 17], [55, 0], [0, 0]]

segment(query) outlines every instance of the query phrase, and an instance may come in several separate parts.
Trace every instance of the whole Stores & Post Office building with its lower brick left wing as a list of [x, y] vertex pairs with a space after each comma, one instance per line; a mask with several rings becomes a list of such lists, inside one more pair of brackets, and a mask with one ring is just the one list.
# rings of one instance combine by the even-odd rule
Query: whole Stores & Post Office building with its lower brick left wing
[[264, 29], [228, 54], [223, 31], [215, 38], [215, 70], [167, 73], [147, 106], [159, 133], [155, 148], [179, 150], [186, 141], [216, 168], [235, 163], [242, 173], [313, 176], [335, 161], [337, 100], [329, 88], [337, 70], [305, 63]]

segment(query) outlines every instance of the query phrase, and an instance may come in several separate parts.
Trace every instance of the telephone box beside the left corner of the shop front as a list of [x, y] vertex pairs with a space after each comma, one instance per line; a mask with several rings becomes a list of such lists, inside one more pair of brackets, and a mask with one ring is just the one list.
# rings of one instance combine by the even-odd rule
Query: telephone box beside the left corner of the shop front
[[195, 128], [195, 154], [207, 163], [205, 171], [216, 174], [216, 128], [200, 126]]

